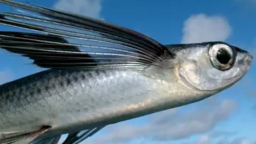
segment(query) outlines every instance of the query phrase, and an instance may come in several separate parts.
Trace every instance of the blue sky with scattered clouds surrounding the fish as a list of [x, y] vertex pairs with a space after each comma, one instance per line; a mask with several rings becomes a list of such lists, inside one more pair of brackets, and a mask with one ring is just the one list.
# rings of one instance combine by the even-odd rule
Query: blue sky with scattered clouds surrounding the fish
[[[137, 30], [163, 44], [225, 41], [248, 50], [256, 58], [256, 2], [253, 0], [23, 2], [103, 19]], [[0, 9], [10, 11], [3, 4]], [[0, 29], [15, 30], [5, 26]], [[42, 70], [26, 65], [31, 61], [18, 55], [0, 55], [1, 83]], [[255, 70], [253, 63], [240, 82], [209, 99], [107, 126], [82, 143], [256, 143]]]

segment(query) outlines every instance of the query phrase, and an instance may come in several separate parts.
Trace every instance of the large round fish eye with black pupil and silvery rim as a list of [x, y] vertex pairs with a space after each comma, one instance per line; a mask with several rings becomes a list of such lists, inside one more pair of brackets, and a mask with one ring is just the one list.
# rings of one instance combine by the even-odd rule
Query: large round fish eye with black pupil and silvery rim
[[222, 71], [230, 69], [235, 61], [233, 49], [226, 44], [215, 44], [211, 46], [209, 55], [212, 65]]

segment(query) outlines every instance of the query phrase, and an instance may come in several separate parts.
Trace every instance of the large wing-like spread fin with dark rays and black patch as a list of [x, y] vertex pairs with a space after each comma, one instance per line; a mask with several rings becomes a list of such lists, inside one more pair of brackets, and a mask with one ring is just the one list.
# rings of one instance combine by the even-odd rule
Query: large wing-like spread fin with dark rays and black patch
[[172, 57], [164, 45], [131, 29], [35, 4], [9, 0], [0, 3], [26, 10], [22, 14], [0, 13], [0, 24], [39, 33], [0, 31], [0, 47], [34, 60], [39, 67], [146, 69]]

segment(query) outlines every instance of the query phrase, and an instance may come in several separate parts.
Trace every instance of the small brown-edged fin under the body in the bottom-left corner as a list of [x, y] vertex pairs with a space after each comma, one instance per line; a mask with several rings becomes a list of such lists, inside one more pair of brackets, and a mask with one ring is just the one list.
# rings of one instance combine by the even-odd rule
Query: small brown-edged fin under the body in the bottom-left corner
[[30, 132], [17, 132], [2, 134], [1, 144], [27, 144], [37, 138], [39, 135], [51, 129], [51, 126], [43, 126], [40, 130]]

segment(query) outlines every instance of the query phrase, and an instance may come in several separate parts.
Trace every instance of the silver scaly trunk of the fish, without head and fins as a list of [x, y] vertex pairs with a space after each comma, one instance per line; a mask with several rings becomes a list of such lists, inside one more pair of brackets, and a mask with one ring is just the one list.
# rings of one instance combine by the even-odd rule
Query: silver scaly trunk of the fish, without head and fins
[[0, 132], [34, 131], [42, 125], [53, 126], [49, 132], [54, 135], [81, 131], [212, 94], [182, 84], [177, 69], [158, 70], [169, 74], [50, 69], [6, 83], [0, 86]]

